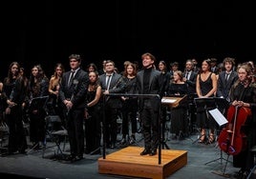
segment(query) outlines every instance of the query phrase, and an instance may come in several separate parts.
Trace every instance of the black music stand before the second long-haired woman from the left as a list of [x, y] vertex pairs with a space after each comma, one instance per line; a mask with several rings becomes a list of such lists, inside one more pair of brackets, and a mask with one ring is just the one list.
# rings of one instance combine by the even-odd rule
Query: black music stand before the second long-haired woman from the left
[[[29, 106], [29, 111], [32, 111], [33, 109], [41, 109], [43, 108], [44, 110], [46, 110], [46, 104], [48, 101], [49, 96], [41, 96], [41, 97], [34, 97], [32, 98], [31, 102], [30, 102], [30, 106]], [[30, 149], [27, 154], [29, 154], [33, 149], [35, 149], [36, 147], [39, 146], [39, 142], [37, 144], [35, 144], [32, 149]]]

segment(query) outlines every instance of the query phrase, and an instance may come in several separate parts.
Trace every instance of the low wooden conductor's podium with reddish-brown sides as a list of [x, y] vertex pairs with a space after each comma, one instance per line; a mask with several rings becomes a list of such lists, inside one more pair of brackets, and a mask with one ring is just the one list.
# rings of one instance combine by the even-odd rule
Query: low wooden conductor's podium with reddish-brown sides
[[187, 151], [161, 149], [157, 155], [141, 156], [143, 148], [126, 147], [98, 158], [98, 173], [163, 179], [187, 164]]

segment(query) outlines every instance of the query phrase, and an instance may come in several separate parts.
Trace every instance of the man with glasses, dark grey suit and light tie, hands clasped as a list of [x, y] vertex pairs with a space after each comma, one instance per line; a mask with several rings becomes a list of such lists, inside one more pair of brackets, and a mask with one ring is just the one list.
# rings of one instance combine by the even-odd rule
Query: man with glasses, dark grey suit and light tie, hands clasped
[[[99, 76], [99, 84], [103, 94], [121, 93], [125, 89], [122, 76], [115, 72], [115, 63], [107, 60], [106, 72]], [[106, 144], [108, 148], [115, 149], [117, 143], [117, 114], [122, 107], [121, 97], [107, 96], [105, 102], [105, 131]]]

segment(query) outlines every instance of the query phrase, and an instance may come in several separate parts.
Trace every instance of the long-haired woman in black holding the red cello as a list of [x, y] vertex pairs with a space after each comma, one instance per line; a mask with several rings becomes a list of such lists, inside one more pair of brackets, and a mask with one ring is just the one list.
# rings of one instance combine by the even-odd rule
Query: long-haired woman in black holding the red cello
[[230, 89], [230, 104], [234, 107], [249, 108], [252, 112], [252, 115], [245, 119], [245, 123], [241, 127], [241, 131], [246, 136], [245, 146], [238, 154], [233, 155], [233, 166], [241, 168], [236, 175], [239, 178], [245, 178], [254, 166], [254, 156], [250, 149], [256, 144], [256, 84], [252, 82], [252, 69], [247, 63], [241, 64], [237, 71], [239, 79]]

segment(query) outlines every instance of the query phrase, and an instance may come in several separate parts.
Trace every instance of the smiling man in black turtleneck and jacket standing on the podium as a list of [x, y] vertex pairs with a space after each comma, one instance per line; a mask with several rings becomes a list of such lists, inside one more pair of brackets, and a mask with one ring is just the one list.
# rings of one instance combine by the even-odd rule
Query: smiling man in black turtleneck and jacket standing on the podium
[[[143, 69], [137, 74], [139, 94], [161, 94], [160, 71], [153, 68], [156, 58], [146, 52], [141, 55]], [[139, 98], [139, 112], [144, 136], [144, 150], [140, 155], [156, 155], [160, 144], [160, 99]]]

